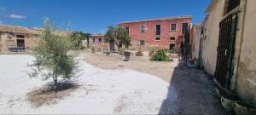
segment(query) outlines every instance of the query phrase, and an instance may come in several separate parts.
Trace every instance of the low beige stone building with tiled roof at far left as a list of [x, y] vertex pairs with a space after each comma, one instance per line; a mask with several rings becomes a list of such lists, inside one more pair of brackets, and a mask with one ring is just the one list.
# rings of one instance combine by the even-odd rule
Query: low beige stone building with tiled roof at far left
[[0, 52], [24, 51], [36, 45], [38, 32], [21, 26], [0, 25]]

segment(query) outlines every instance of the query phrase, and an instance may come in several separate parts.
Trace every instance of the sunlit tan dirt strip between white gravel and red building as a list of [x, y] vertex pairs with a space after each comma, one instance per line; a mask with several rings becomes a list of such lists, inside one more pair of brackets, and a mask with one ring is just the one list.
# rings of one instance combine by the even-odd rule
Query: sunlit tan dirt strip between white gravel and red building
[[107, 70], [115, 69], [131, 69], [137, 72], [144, 72], [154, 75], [158, 78], [170, 82], [172, 78], [172, 72], [177, 66], [177, 58], [174, 61], [150, 61], [148, 56], [135, 56], [132, 55], [129, 61], [123, 61], [124, 56], [112, 53], [110, 55], [103, 54], [101, 52], [91, 53], [90, 51], [84, 51], [81, 54], [84, 60], [93, 65]]

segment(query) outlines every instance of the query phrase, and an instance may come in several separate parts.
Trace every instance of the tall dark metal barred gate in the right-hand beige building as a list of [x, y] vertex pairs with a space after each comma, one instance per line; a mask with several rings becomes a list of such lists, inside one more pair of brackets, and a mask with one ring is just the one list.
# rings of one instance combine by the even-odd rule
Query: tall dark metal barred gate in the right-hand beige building
[[237, 14], [230, 14], [219, 24], [218, 55], [214, 78], [224, 88], [230, 90], [235, 55]]

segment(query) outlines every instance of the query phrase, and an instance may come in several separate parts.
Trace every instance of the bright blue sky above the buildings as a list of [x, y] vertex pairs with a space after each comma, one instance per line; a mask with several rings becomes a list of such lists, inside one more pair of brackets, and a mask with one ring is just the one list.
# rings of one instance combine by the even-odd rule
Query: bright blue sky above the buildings
[[48, 16], [55, 26], [83, 32], [105, 32], [125, 20], [192, 15], [203, 20], [210, 0], [0, 0], [0, 23], [41, 27]]

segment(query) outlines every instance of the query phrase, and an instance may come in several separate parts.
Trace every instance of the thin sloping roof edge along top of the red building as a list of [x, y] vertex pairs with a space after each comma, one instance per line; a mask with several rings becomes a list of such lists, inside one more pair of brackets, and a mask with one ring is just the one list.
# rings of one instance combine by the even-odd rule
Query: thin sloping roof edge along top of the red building
[[184, 15], [184, 16], [177, 16], [177, 17], [166, 17], [166, 18], [159, 18], [159, 19], [150, 19], [150, 20], [134, 20], [134, 21], [123, 21], [119, 24], [124, 23], [134, 23], [134, 22], [143, 22], [143, 21], [152, 21], [152, 20], [177, 20], [177, 19], [191, 19], [191, 15]]

